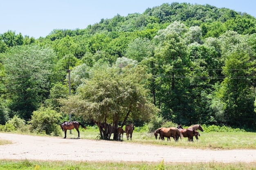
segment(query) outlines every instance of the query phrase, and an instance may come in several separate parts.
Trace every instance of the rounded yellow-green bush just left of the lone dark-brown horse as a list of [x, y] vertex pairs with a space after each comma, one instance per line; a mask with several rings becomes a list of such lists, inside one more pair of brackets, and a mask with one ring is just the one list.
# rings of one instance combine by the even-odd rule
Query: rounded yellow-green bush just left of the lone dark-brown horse
[[61, 114], [52, 108], [40, 107], [39, 110], [34, 111], [32, 114], [30, 130], [31, 132], [58, 136], [61, 134], [61, 129], [58, 125], [60, 118]]

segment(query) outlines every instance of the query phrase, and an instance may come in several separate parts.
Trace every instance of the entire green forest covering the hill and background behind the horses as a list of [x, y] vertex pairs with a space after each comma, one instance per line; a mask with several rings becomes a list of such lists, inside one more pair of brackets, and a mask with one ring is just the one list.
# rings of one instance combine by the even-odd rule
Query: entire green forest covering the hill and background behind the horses
[[0, 77], [2, 125], [72, 114], [105, 131], [157, 119], [256, 130], [256, 18], [173, 2], [38, 39], [9, 30]]

